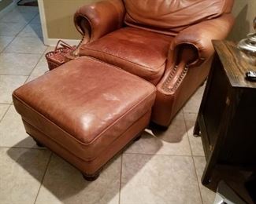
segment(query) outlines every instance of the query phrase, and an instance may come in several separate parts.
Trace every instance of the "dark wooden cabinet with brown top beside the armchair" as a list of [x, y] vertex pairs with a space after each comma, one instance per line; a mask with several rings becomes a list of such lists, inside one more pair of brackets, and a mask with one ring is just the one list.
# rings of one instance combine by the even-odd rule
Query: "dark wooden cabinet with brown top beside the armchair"
[[194, 129], [206, 155], [202, 184], [210, 182], [217, 166], [256, 167], [256, 82], [245, 79], [256, 67], [232, 42], [213, 41], [213, 46], [216, 54]]

